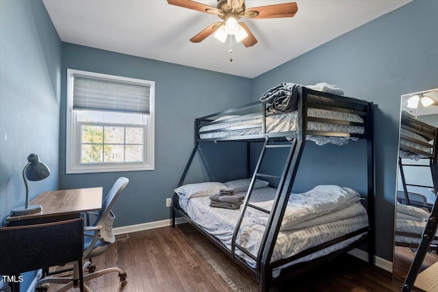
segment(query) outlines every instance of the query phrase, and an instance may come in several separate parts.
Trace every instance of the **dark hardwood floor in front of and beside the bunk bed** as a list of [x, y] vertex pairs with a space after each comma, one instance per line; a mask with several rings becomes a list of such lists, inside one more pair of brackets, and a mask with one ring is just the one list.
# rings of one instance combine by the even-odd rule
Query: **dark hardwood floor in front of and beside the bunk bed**
[[[92, 291], [258, 291], [255, 280], [190, 224], [130, 233], [93, 261], [98, 270], [118, 266], [128, 276], [123, 284], [116, 273], [90, 280]], [[56, 288], [51, 284], [49, 291]], [[271, 291], [400, 291], [400, 286], [389, 272], [346, 255]]]

